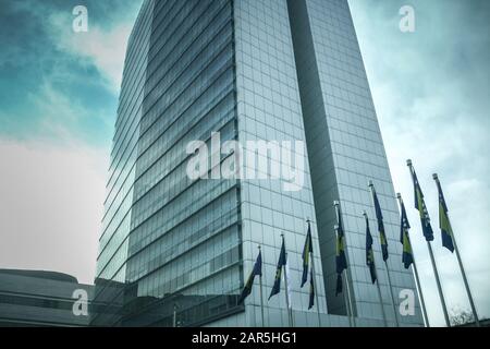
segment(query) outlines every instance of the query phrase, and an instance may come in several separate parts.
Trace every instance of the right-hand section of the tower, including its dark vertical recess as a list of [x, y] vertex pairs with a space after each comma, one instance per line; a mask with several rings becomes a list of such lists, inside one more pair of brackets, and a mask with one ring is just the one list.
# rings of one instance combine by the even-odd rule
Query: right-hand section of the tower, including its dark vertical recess
[[[329, 311], [346, 312], [344, 299], [335, 297], [336, 217], [332, 204], [340, 201], [355, 313], [363, 318], [382, 318], [377, 289], [366, 267], [366, 227], [362, 215], [366, 209], [376, 241], [384, 312], [394, 324], [369, 180], [383, 212], [396, 310], [400, 291], [416, 292], [415, 282], [412, 270], [404, 269], [401, 263], [399, 208], [348, 4], [344, 0], [290, 0], [290, 10]], [[399, 314], [399, 321], [406, 325], [422, 324], [418, 302], [415, 314], [404, 317]]]

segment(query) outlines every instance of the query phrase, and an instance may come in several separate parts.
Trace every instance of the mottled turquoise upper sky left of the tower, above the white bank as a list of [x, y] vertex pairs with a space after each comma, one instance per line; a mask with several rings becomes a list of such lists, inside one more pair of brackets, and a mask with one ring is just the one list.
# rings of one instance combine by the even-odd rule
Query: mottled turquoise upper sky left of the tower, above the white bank
[[138, 3], [86, 1], [86, 34], [73, 32], [75, 1], [2, 4], [0, 135], [61, 143], [61, 134], [109, 146]]

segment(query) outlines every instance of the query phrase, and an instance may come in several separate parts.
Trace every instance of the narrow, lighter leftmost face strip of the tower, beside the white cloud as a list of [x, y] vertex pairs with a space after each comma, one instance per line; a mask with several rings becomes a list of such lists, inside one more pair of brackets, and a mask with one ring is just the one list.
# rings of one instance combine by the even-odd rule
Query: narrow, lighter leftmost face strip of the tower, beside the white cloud
[[95, 282], [95, 299], [113, 308], [93, 316], [93, 325], [121, 323], [152, 12], [146, 1], [127, 45]]

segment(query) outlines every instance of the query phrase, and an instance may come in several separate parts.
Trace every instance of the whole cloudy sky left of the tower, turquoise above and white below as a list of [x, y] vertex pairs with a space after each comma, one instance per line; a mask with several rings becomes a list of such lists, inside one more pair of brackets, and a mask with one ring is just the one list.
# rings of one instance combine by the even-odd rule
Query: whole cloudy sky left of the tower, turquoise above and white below
[[126, 37], [140, 1], [7, 1], [0, 11], [0, 267], [95, 275]]

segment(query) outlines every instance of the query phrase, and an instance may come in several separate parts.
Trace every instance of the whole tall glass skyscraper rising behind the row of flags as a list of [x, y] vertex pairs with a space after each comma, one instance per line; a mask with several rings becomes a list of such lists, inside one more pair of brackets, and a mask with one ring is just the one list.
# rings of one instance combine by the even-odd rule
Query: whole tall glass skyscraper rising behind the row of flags
[[[244, 172], [264, 155], [271, 168], [291, 165], [256, 154], [249, 141], [303, 142], [291, 149], [305, 164], [299, 190], [271, 178], [189, 178], [187, 145], [211, 145], [213, 132], [222, 144], [240, 142], [243, 158], [257, 155]], [[219, 154], [209, 173], [234, 155]], [[109, 305], [91, 324], [260, 326], [258, 285], [237, 304], [260, 245], [266, 325], [289, 326], [284, 289], [267, 301], [283, 233], [293, 325], [318, 326], [308, 287], [299, 287], [310, 218], [321, 325], [347, 326], [334, 294], [336, 200], [357, 324], [382, 325], [364, 260], [360, 213], [375, 217], [368, 180], [380, 196], [400, 302], [399, 291], [415, 284], [401, 263], [393, 185], [346, 0], [146, 0], [125, 58], [97, 263], [95, 301]], [[422, 324], [417, 301], [415, 315], [397, 316]]]

